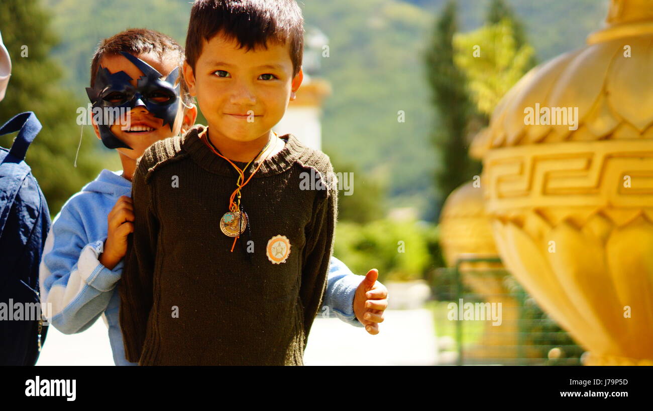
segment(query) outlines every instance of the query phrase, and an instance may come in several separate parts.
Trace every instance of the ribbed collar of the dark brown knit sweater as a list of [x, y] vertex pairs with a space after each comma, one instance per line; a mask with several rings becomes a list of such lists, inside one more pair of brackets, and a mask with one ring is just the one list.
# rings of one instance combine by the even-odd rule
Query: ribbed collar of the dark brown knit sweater
[[[233, 177], [236, 175], [236, 170], [232, 167], [227, 160], [221, 158], [220, 156], [215, 155], [215, 153], [208, 147], [204, 141], [200, 140], [199, 134], [204, 131], [204, 126], [197, 124], [191, 128], [185, 135], [182, 137], [182, 150], [187, 152], [193, 160], [200, 165], [206, 171], [215, 173], [218, 175], [224, 175]], [[286, 141], [285, 146], [281, 151], [274, 156], [268, 157], [263, 160], [263, 164], [253, 178], [267, 177], [270, 175], [276, 175], [283, 173], [289, 169], [293, 163], [300, 158], [304, 153], [304, 146], [296, 137], [292, 134], [285, 134], [279, 136], [279, 138]], [[247, 165], [244, 162], [232, 162], [237, 165], [240, 169], [243, 169]], [[249, 166], [249, 169], [246, 173], [246, 177], [258, 167], [259, 162], [254, 162]]]

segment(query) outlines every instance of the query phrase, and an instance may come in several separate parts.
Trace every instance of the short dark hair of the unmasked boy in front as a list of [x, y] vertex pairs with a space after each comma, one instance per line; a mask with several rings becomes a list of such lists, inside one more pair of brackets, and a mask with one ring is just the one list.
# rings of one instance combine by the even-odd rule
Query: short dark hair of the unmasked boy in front
[[267, 48], [268, 41], [290, 42], [293, 77], [302, 67], [304, 17], [295, 0], [195, 0], [186, 35], [186, 61], [195, 70], [202, 40], [218, 33], [240, 48]]

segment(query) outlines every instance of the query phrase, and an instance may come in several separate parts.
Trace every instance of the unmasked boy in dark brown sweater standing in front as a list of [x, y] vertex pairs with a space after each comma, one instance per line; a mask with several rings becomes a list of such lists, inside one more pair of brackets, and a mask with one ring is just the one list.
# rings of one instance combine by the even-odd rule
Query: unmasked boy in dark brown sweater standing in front
[[271, 130], [302, 82], [302, 49], [295, 0], [195, 1], [183, 76], [208, 126], [155, 143], [136, 167], [127, 360], [302, 364], [338, 198], [328, 157]]

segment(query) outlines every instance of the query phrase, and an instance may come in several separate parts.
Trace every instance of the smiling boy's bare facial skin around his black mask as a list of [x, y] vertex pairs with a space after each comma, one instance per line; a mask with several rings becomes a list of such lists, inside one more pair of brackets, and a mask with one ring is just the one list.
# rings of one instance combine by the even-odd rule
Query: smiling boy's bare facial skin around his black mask
[[[157, 55], [150, 53], [137, 55], [136, 57], [150, 64], [150, 66], [155, 68], [159, 73], [163, 74], [163, 78], [168, 76], [168, 74], [177, 67], [173, 59], [159, 59]], [[100, 66], [106, 68], [112, 74], [120, 71], [127, 73], [127, 75], [131, 77], [130, 83], [135, 87], [138, 78], [144, 75], [142, 71], [131, 63], [131, 61], [127, 60], [122, 55], [105, 55], [100, 61]], [[129, 119], [129, 124], [131, 124], [130, 130], [122, 129], [123, 126], [121, 126], [121, 124], [126, 123], [125, 119], [121, 119], [121, 121], [116, 122], [116, 124], [111, 126], [111, 132], [133, 149], [129, 150], [121, 148], [117, 149], [118, 152], [123, 156], [136, 160], [156, 141], [179, 134], [182, 128], [182, 123], [185, 120], [185, 112], [181, 98], [176, 104], [179, 104], [179, 107], [172, 130], [170, 130], [168, 124], [165, 124], [164, 126], [163, 120], [155, 117], [150, 113], [150, 111], [148, 111], [148, 109], [146, 109], [145, 106], [137, 106], [131, 109], [131, 118]], [[192, 117], [193, 122], [195, 122], [195, 116]], [[192, 126], [192, 124], [189, 125]], [[95, 128], [95, 134], [100, 138], [99, 130], [95, 124], [93, 124], [93, 128]]]

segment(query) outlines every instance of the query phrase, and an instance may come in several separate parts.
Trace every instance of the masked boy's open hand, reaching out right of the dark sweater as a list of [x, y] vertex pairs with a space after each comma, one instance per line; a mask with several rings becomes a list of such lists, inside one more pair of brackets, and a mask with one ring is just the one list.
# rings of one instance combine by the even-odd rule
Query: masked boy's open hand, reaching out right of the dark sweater
[[354, 314], [372, 335], [379, 333], [379, 322], [383, 322], [383, 311], [388, 307], [388, 290], [376, 281], [378, 277], [377, 269], [368, 271], [354, 296]]

